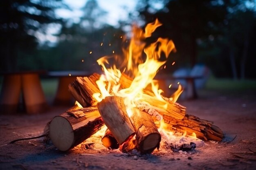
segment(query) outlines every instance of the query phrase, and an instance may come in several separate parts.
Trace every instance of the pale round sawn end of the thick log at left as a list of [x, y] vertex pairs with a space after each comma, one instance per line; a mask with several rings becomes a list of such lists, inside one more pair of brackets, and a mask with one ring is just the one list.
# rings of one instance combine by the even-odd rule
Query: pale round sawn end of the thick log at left
[[74, 132], [70, 122], [64, 117], [54, 117], [49, 125], [49, 137], [58, 150], [69, 150], [74, 143]]

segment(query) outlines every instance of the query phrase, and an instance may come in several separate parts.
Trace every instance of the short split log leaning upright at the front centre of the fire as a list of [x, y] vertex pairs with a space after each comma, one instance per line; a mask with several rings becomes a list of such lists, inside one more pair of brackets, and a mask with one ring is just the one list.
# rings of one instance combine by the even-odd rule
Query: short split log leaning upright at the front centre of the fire
[[106, 126], [120, 145], [135, 134], [122, 97], [108, 96], [97, 107]]

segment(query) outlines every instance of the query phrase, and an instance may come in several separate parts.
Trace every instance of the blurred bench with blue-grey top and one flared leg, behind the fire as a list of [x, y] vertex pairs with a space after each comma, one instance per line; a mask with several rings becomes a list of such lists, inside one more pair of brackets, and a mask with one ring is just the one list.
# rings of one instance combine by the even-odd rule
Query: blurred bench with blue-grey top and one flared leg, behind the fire
[[[74, 104], [74, 99], [68, 91], [68, 85], [76, 79], [76, 77], [89, 76], [91, 73], [87, 71], [49, 71], [47, 76], [58, 78], [58, 88], [54, 97], [54, 105]], [[73, 100], [72, 100], [73, 99]]]

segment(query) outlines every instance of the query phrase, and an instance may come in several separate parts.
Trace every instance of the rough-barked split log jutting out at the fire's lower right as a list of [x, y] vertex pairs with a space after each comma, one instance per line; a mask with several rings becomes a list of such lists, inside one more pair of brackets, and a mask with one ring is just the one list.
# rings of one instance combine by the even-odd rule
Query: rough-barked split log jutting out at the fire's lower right
[[224, 137], [222, 130], [213, 125], [213, 122], [200, 119], [194, 115], [185, 115], [182, 120], [165, 115], [164, 121], [168, 124], [168, 130], [174, 131], [174, 133], [186, 132], [187, 135], [192, 135], [195, 132], [199, 139], [214, 141], [221, 141]]

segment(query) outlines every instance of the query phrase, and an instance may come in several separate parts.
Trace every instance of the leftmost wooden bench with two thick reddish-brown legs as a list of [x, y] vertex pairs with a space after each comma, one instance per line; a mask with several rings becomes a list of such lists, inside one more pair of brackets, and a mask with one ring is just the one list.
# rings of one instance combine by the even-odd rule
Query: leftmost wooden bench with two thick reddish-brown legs
[[4, 76], [0, 95], [0, 113], [16, 113], [20, 103], [20, 94], [22, 94], [22, 102], [27, 113], [44, 112], [48, 106], [39, 74], [45, 74], [45, 71], [0, 73]]

